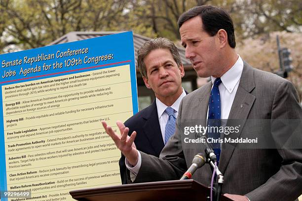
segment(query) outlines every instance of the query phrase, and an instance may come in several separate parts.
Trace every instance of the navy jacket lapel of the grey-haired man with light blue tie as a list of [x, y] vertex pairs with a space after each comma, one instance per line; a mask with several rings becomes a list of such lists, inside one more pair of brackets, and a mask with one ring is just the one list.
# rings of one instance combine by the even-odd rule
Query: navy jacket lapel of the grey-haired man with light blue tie
[[162, 139], [162, 134], [160, 130], [160, 125], [158, 121], [156, 102], [153, 101], [151, 107], [148, 108], [149, 111], [146, 112], [144, 118], [146, 120], [145, 125], [143, 125], [144, 134], [147, 139], [150, 141], [151, 146], [155, 150], [156, 153], [161, 152], [164, 147], [164, 142]]

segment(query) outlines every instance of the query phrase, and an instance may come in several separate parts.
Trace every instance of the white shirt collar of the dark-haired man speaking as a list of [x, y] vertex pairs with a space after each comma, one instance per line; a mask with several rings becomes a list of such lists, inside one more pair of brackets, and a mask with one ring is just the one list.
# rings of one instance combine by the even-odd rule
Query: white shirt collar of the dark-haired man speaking
[[[240, 55], [238, 55], [236, 63], [221, 77], [222, 83], [229, 93], [234, 90], [236, 83], [240, 80], [242, 71], [243, 60], [241, 59]], [[212, 84], [214, 83], [215, 79], [216, 78], [211, 76]]]

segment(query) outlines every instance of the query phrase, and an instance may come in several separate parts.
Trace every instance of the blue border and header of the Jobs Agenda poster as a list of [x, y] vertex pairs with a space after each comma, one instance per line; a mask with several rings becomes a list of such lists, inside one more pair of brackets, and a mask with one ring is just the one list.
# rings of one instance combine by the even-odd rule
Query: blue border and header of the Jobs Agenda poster
[[[88, 48], [88, 53], [67, 56], [62, 58], [55, 58], [43, 61], [37, 61], [33, 63], [24, 62], [25, 58], [34, 58], [37, 55], [52, 55], [57, 51], [66, 52], [68, 49], [85, 49]], [[84, 56], [93, 58], [97, 56], [108, 56], [112, 54], [113, 58], [104, 60], [98, 64], [96, 63], [84, 63], [81, 65], [64, 66], [62, 68], [49, 69], [43, 71], [43, 65], [52, 65], [54, 62], [63, 63], [67, 59], [77, 58], [83, 59]], [[60, 54], [59, 54], [60, 55]], [[18, 60], [18, 61], [17, 61]], [[23, 60], [22, 64], [18, 64], [20, 60]], [[37, 59], [38, 60], [38, 59]], [[3, 62], [5, 61], [5, 62]], [[15, 61], [13, 63], [13, 61]], [[16, 62], [17, 61], [17, 62]], [[31, 60], [32, 61], [32, 60]], [[8, 62], [8, 63], [7, 63]], [[6, 65], [7, 64], [7, 65]], [[66, 63], [65, 63], [66, 64]], [[136, 80], [136, 68], [135, 68], [135, 55], [134, 55], [134, 43], [133, 33], [123, 32], [119, 34], [113, 34], [103, 37], [97, 37], [87, 40], [79, 40], [74, 42], [68, 42], [63, 44], [50, 45], [45, 47], [39, 47], [30, 50], [24, 50], [19, 52], [7, 53], [0, 55], [0, 101], [2, 102], [2, 86], [13, 83], [21, 83], [29, 80], [40, 80], [45, 78], [53, 78], [57, 76], [70, 75], [81, 72], [88, 72], [92, 70], [114, 68], [121, 65], [130, 65], [130, 79], [131, 79], [131, 93], [132, 93], [132, 108], [133, 115], [138, 112], [138, 96], [137, 96], [137, 80]], [[3, 67], [4, 65], [4, 67]], [[38, 72], [30, 72], [26, 76], [20, 72], [21, 68], [24, 69], [35, 68], [40, 66], [41, 70]], [[53, 67], [53, 66], [52, 66]], [[15, 75], [9, 76], [10, 72], [15, 71]], [[34, 71], [34, 70], [33, 70]], [[8, 73], [8, 74], [7, 74]], [[5, 77], [4, 75], [8, 75]], [[0, 104], [0, 111], [2, 116], [0, 121], [3, 122], [3, 106]], [[0, 123], [0, 190], [7, 190], [7, 178], [6, 178], [6, 163], [5, 163], [5, 146], [4, 146], [4, 122]], [[1, 198], [2, 201], [7, 201], [7, 198]]]

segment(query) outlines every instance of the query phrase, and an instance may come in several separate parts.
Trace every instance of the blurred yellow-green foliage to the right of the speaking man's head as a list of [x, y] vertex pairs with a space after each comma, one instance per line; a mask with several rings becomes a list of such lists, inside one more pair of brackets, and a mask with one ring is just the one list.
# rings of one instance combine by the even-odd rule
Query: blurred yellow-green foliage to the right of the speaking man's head
[[244, 38], [274, 31], [302, 31], [301, 0], [238, 0], [233, 11], [236, 31]]

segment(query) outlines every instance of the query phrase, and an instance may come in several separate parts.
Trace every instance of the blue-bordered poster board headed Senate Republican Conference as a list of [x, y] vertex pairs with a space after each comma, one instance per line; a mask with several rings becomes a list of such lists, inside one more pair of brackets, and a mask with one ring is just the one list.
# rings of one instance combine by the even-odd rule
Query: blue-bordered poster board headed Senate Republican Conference
[[2, 54], [0, 63], [1, 193], [68, 201], [71, 190], [120, 184], [120, 152], [101, 121], [116, 129], [138, 112], [132, 32]]

